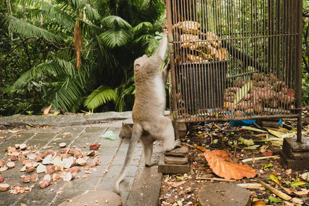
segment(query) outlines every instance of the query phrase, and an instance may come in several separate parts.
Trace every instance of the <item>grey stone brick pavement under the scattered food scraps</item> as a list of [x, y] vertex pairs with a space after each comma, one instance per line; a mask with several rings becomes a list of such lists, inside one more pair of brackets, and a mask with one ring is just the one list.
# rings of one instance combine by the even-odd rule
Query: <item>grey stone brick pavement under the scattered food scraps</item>
[[[30, 150], [60, 151], [59, 144], [65, 142], [67, 148], [80, 148], [82, 151], [89, 152], [90, 144], [101, 144], [100, 150], [97, 150], [100, 165], [92, 170], [87, 170], [91, 159], [88, 159], [87, 165], [80, 167], [82, 170], [76, 176], [79, 179], [73, 179], [65, 182], [60, 179], [58, 182], [52, 181], [45, 189], [39, 187], [38, 182], [43, 179], [45, 174], [38, 174], [38, 182], [22, 183], [21, 176], [27, 175], [26, 172], [20, 172], [22, 163], [16, 163], [14, 168], [0, 172], [4, 178], [3, 183], [8, 183], [10, 187], [21, 185], [22, 187], [31, 187], [31, 192], [23, 194], [11, 194], [10, 190], [0, 192], [0, 205], [59, 205], [60, 203], [71, 199], [74, 196], [91, 192], [94, 190], [111, 190], [119, 170], [126, 157], [126, 150], [130, 139], [121, 139], [118, 137], [122, 121], [130, 119], [131, 113], [95, 113], [93, 115], [59, 115], [59, 116], [24, 116], [16, 115], [12, 117], [0, 117], [0, 159], [8, 162], [5, 155], [5, 149], [15, 144], [27, 144]], [[47, 126], [48, 125], [48, 126]], [[2, 126], [2, 128], [1, 128]], [[17, 128], [19, 132], [10, 133], [3, 126]], [[33, 127], [21, 127], [33, 126]], [[35, 128], [35, 126], [46, 126], [44, 128]], [[111, 130], [117, 138], [115, 140], [100, 137]], [[155, 146], [155, 160], [161, 155], [159, 146]], [[162, 174], [157, 172], [157, 167], [144, 167], [142, 157], [142, 148], [139, 143], [135, 149], [135, 155], [130, 165], [128, 174], [120, 184], [122, 190], [121, 198], [123, 205], [159, 205], [159, 192], [161, 186]], [[91, 172], [89, 174], [88, 172]], [[32, 172], [34, 173], [34, 172]], [[32, 175], [30, 173], [30, 175]], [[60, 171], [55, 173], [60, 174]], [[83, 178], [86, 175], [87, 177]]]

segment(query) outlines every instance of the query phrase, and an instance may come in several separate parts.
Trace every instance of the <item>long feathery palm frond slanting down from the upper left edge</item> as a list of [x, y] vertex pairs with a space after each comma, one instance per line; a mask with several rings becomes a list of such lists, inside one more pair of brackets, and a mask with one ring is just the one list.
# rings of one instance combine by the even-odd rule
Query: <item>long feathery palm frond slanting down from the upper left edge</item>
[[50, 41], [57, 41], [61, 42], [62, 38], [47, 30], [43, 30], [41, 27], [36, 27], [30, 23], [22, 21], [20, 19], [16, 19], [14, 16], [0, 16], [1, 21], [0, 25], [7, 27], [8, 29], [16, 32], [17, 34], [21, 34], [22, 36], [29, 37], [29, 36], [36, 36], [36, 37], [45, 37]]

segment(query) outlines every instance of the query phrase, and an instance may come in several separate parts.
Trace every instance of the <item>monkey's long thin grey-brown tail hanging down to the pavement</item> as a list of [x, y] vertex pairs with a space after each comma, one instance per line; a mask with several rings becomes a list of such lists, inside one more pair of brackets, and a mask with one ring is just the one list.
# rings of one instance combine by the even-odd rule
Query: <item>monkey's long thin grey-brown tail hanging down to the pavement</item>
[[128, 146], [128, 152], [126, 152], [126, 159], [124, 160], [122, 172], [120, 172], [120, 174], [117, 176], [117, 179], [115, 180], [113, 184], [113, 191], [117, 194], [120, 194], [119, 183], [121, 183], [124, 180], [124, 176], [126, 176], [126, 172], [128, 171], [128, 166], [130, 165], [130, 162], [133, 159], [133, 153], [134, 153], [135, 147], [142, 133], [143, 133], [143, 128], [141, 127], [141, 125], [134, 124], [133, 130], [132, 130], [132, 137], [130, 139], [130, 144]]

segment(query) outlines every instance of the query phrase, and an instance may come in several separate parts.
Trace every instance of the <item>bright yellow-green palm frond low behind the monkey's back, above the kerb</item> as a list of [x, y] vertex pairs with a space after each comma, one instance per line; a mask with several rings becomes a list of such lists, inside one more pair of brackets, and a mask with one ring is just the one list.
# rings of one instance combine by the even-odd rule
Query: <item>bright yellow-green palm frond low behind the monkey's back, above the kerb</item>
[[107, 87], [102, 85], [95, 89], [84, 101], [84, 106], [88, 109], [94, 109], [98, 106], [105, 104], [108, 101], [114, 100], [115, 101], [115, 91], [111, 89], [111, 87]]

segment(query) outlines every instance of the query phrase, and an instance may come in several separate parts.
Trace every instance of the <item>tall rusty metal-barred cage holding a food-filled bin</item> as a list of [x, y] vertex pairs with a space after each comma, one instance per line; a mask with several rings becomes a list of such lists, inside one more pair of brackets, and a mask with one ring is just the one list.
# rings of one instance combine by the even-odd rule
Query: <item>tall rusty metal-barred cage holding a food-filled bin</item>
[[176, 128], [297, 118], [301, 141], [302, 0], [165, 3]]

